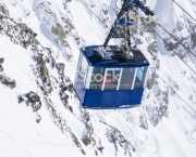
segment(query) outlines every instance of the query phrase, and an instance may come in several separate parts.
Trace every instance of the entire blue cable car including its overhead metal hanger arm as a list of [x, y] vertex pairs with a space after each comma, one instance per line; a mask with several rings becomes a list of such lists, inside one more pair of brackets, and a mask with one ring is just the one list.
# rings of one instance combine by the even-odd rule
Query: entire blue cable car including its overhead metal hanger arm
[[[131, 47], [133, 8], [152, 15], [139, 0], [125, 0], [105, 44], [81, 49], [74, 89], [84, 108], [127, 108], [140, 104], [149, 62]], [[120, 47], [108, 45], [111, 38], [124, 39]]]

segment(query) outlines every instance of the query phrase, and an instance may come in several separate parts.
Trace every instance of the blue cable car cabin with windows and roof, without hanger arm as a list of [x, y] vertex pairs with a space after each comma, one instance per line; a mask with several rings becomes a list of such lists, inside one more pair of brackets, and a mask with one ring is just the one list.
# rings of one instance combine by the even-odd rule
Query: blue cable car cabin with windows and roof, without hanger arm
[[84, 108], [138, 106], [144, 92], [148, 61], [139, 50], [123, 58], [120, 49], [101, 56], [101, 47], [82, 49], [74, 88]]

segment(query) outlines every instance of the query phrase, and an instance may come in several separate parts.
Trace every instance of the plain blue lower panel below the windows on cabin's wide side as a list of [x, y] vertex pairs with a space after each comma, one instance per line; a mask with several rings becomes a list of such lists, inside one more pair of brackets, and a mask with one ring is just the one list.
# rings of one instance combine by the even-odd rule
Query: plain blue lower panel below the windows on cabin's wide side
[[83, 106], [86, 108], [130, 108], [140, 104], [144, 89], [98, 91], [86, 89]]

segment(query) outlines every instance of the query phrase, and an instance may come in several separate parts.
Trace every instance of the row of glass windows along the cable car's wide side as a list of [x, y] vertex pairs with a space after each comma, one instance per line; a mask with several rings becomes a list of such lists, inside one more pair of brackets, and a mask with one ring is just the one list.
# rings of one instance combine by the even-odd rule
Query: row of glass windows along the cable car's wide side
[[[82, 71], [86, 71], [87, 67]], [[99, 68], [91, 67], [87, 88], [94, 90], [132, 90], [144, 87], [147, 67]], [[83, 73], [82, 73], [83, 74]], [[82, 75], [83, 78], [85, 75]], [[105, 86], [103, 86], [105, 82]]]

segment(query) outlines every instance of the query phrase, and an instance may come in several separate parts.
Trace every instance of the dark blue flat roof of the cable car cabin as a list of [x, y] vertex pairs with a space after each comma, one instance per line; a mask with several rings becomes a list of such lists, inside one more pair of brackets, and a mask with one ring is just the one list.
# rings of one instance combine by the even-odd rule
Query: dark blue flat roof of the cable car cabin
[[88, 64], [93, 67], [125, 68], [149, 66], [149, 62], [138, 49], [133, 49], [133, 57], [128, 58], [115, 45], [110, 45], [110, 52], [101, 52], [100, 48], [101, 45], [91, 45], [81, 50]]

